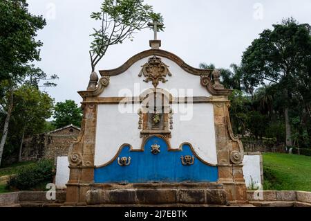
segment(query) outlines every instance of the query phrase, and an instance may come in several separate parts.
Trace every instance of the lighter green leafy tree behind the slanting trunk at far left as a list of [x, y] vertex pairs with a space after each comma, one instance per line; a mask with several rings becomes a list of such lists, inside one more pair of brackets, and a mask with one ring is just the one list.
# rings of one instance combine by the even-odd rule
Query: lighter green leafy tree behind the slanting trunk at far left
[[[9, 91], [3, 97], [3, 106], [6, 109], [8, 103]], [[32, 134], [44, 132], [46, 119], [53, 114], [53, 98], [31, 85], [21, 85], [14, 91], [13, 109], [10, 116], [10, 127], [8, 130], [8, 139], [6, 148], [3, 150], [3, 159], [14, 159], [17, 155], [22, 142]], [[0, 109], [1, 113], [1, 109]], [[2, 109], [0, 114], [0, 125], [3, 127], [3, 121], [6, 114]], [[1, 133], [0, 133], [1, 134]]]

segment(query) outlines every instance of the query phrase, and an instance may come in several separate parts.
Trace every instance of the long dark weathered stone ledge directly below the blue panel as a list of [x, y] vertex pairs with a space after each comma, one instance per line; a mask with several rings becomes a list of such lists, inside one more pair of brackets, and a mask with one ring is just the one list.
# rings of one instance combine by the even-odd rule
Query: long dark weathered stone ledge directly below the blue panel
[[222, 189], [93, 189], [86, 193], [88, 205], [100, 204], [214, 204], [227, 205]]

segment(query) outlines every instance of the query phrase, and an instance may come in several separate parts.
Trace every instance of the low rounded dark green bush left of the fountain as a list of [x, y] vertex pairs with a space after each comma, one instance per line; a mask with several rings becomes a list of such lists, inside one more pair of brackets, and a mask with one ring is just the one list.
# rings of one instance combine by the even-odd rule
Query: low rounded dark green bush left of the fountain
[[7, 188], [30, 190], [44, 182], [53, 182], [55, 175], [54, 163], [50, 160], [41, 160], [34, 165], [23, 166], [16, 175], [10, 177]]

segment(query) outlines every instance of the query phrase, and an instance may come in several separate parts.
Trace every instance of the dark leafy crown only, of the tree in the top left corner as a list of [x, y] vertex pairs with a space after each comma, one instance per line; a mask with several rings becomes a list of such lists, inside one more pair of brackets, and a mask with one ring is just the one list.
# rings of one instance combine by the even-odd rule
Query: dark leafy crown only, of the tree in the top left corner
[[46, 21], [28, 12], [26, 0], [0, 1], [0, 81], [19, 78], [33, 69], [28, 62], [40, 60], [37, 30]]

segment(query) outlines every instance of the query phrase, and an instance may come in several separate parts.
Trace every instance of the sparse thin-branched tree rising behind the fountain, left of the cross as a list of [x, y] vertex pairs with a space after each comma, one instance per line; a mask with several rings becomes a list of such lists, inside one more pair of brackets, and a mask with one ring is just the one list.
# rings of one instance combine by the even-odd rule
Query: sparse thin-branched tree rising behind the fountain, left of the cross
[[93, 12], [91, 18], [101, 25], [99, 29], [93, 28], [95, 32], [91, 35], [94, 38], [89, 52], [92, 72], [109, 46], [122, 44], [126, 38], [133, 39], [139, 30], [148, 28], [150, 19], [163, 20], [144, 0], [104, 0], [100, 12]]

